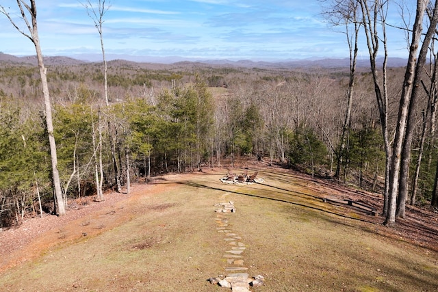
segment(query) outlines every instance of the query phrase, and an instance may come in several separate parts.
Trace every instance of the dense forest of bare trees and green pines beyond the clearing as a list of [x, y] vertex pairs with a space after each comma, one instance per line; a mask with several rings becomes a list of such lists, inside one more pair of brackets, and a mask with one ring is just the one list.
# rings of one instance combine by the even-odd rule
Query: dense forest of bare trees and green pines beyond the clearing
[[[333, 176], [346, 108], [348, 69], [239, 68], [208, 64], [53, 64], [48, 81], [64, 200], [164, 172], [268, 159], [318, 176]], [[381, 127], [370, 72], [359, 69], [348, 159], [339, 179], [380, 190], [385, 171]], [[389, 69], [390, 124], [403, 68]], [[53, 212], [53, 191], [38, 68], [0, 66], [1, 224]], [[426, 100], [417, 113], [418, 152]], [[422, 115], [423, 113], [423, 115]], [[435, 178], [436, 142], [428, 135], [417, 200], [427, 204]], [[415, 160], [413, 160], [415, 161]], [[99, 174], [99, 164], [103, 174]], [[415, 168], [415, 163], [412, 163]]]

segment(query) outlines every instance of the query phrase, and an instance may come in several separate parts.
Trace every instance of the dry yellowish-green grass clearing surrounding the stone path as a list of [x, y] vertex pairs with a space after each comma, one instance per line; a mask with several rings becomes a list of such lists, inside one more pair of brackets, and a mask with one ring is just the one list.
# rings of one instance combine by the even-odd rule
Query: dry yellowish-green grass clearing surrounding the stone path
[[[315, 191], [309, 182], [261, 172], [266, 185], [224, 185], [223, 173], [166, 176], [149, 194], [120, 203], [131, 216], [116, 228], [9, 269], [0, 289], [224, 291], [207, 278], [227, 274], [214, 204], [228, 193], [237, 208], [229, 228], [246, 244], [248, 273], [266, 278], [252, 291], [437, 290], [435, 252], [378, 235], [382, 226], [333, 215], [337, 207], [305, 195]], [[291, 202], [279, 201], [286, 199]], [[87, 220], [105, 224], [104, 217]]]

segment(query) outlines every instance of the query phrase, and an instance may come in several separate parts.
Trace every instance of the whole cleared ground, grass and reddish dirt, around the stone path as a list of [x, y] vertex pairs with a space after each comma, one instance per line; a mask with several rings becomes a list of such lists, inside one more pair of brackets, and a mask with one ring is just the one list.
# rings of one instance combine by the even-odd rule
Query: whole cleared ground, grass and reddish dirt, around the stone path
[[254, 291], [436, 291], [433, 210], [409, 206], [389, 228], [379, 194], [258, 161], [233, 171], [245, 168], [263, 183], [220, 183], [224, 168], [169, 174], [3, 230], [0, 289], [216, 291], [206, 280], [225, 273], [224, 243], [211, 214], [227, 194], [248, 269], [267, 279]]

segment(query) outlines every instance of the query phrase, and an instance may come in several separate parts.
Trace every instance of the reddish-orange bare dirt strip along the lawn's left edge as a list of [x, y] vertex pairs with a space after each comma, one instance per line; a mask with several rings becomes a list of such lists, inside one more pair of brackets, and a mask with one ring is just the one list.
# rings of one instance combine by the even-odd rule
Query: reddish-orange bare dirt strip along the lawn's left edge
[[[35, 258], [54, 245], [97, 235], [129, 220], [132, 210], [124, 211], [120, 203], [136, 200], [137, 196], [150, 189], [149, 185], [139, 184], [133, 186], [131, 194], [106, 193], [103, 202], [96, 202], [93, 198], [73, 200], [62, 217], [35, 217], [18, 227], [4, 230], [0, 233], [0, 272]], [[159, 187], [155, 187], [155, 190], [160, 191]], [[112, 216], [116, 213], [118, 216]]]

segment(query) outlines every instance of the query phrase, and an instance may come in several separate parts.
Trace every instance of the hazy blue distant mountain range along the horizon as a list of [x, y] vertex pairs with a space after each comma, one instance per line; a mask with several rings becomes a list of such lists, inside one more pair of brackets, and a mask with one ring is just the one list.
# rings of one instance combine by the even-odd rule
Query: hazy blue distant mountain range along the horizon
[[[195, 59], [187, 57], [151, 57], [137, 55], [114, 55], [108, 54], [107, 61], [126, 60], [135, 63], [150, 63], [150, 64], [175, 64], [181, 62], [193, 62], [201, 64], [209, 64], [214, 66], [233, 66], [242, 68], [348, 68], [350, 60], [345, 59], [285, 59], [282, 61], [251, 61], [239, 60], [232, 61], [229, 59]], [[93, 62], [101, 62], [102, 56], [99, 54], [83, 54], [71, 56], [47, 56], [44, 57], [44, 64], [50, 65], [79, 65]], [[383, 63], [383, 58], [378, 59], [379, 65]], [[36, 56], [17, 57], [0, 53], [0, 62], [16, 63], [16, 64], [38, 64]], [[407, 59], [389, 58], [388, 67], [406, 66]], [[359, 68], [367, 68], [370, 66], [369, 59], [361, 59], [357, 61]]]

